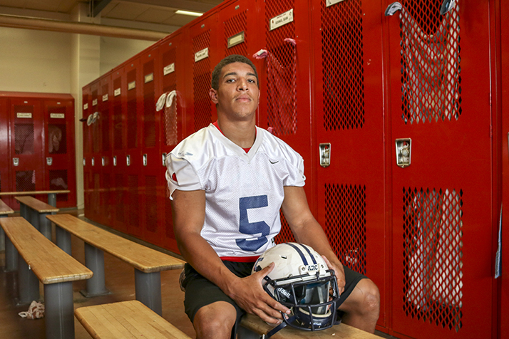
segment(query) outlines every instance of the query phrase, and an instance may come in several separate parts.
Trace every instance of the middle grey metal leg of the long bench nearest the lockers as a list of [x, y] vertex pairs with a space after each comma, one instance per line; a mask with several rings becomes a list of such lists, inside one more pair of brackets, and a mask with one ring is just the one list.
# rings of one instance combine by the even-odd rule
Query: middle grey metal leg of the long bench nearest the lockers
[[81, 291], [81, 294], [87, 298], [109, 294], [104, 283], [104, 252], [85, 243], [85, 265], [93, 276], [86, 281], [86, 291]]

